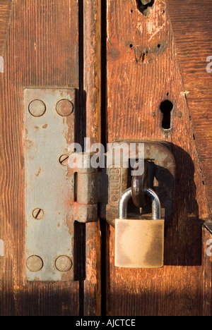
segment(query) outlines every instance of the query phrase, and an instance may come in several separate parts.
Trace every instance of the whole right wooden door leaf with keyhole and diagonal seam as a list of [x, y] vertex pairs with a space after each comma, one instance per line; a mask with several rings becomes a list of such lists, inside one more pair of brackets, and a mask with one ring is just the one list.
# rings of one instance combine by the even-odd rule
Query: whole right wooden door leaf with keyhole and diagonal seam
[[[168, 142], [177, 168], [175, 213], [162, 269], [114, 267], [114, 228], [107, 228], [106, 310], [210, 315], [211, 233], [204, 224], [211, 219], [212, 2], [141, 2], [107, 0], [107, 138]], [[168, 127], [165, 100], [172, 102]]]

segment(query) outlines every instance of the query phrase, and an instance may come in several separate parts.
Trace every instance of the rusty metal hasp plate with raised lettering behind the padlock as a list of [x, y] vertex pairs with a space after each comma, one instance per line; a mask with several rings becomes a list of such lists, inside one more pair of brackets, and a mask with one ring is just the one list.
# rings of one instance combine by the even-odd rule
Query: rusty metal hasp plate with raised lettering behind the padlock
[[[150, 161], [155, 167], [153, 187], [150, 188], [153, 188], [160, 199], [161, 216], [165, 219], [165, 226], [167, 226], [173, 216], [175, 193], [175, 158], [170, 151], [169, 144], [167, 142], [146, 140], [125, 140], [115, 141], [115, 143], [119, 145], [122, 145], [122, 143], [127, 144], [129, 149], [131, 143], [136, 144], [136, 152], [130, 154], [130, 157], [135, 161], [139, 158], [139, 145], [143, 144], [144, 160]], [[112, 158], [109, 153], [106, 154], [106, 157], [107, 159]], [[105, 185], [107, 185], [108, 190], [104, 190]], [[129, 187], [131, 187], [131, 171], [124, 167], [122, 163], [114, 165], [112, 161], [107, 162], [107, 173], [102, 176], [103, 202], [101, 216], [112, 226], [114, 226], [114, 219], [117, 219], [118, 216], [119, 200]]]

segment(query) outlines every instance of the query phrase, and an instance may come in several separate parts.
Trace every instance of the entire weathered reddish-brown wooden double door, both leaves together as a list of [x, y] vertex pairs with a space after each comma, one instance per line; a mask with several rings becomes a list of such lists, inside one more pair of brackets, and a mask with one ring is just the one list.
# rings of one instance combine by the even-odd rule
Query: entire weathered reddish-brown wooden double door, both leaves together
[[[211, 12], [211, 0], [0, 0], [2, 316], [211, 315]], [[81, 145], [168, 143], [175, 212], [162, 269], [114, 267], [114, 228], [102, 216], [78, 226], [76, 281], [27, 281], [30, 87], [78, 90]]]

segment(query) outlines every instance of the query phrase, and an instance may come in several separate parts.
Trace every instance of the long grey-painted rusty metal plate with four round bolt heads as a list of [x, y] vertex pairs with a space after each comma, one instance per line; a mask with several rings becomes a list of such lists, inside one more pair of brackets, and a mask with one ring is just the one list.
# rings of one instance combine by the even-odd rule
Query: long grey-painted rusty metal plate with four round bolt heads
[[24, 92], [25, 269], [28, 281], [73, 280], [74, 89]]

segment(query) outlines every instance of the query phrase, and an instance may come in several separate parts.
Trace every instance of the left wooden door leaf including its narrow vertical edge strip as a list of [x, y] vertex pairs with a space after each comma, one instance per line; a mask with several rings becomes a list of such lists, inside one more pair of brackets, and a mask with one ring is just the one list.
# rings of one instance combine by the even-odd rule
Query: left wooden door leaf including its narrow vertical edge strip
[[25, 279], [23, 142], [28, 87], [78, 90], [78, 142], [86, 130], [98, 141], [98, 11], [97, 1], [0, 1], [1, 315], [100, 314], [97, 223], [78, 228], [77, 281]]

